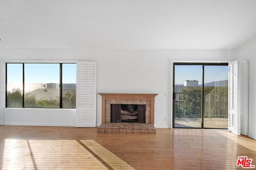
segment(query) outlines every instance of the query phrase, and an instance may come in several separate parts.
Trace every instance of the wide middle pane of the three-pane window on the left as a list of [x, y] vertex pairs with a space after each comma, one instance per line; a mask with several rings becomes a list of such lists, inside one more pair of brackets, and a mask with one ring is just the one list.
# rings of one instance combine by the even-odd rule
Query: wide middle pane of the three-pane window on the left
[[60, 64], [24, 64], [24, 107], [60, 107]]

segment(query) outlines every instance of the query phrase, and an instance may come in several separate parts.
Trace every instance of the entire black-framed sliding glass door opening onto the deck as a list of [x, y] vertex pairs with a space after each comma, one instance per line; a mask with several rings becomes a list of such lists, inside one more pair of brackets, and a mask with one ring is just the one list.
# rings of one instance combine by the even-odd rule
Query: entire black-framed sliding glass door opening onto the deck
[[173, 127], [228, 128], [228, 63], [174, 63]]

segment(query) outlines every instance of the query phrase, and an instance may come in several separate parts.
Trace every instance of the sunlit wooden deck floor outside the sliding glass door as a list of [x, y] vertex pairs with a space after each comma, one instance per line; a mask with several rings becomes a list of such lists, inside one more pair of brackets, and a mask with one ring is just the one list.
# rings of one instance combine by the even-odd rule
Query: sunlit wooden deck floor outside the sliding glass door
[[[174, 127], [199, 127], [201, 128], [201, 118], [175, 118]], [[205, 128], [228, 129], [228, 119], [225, 118], [204, 118]]]

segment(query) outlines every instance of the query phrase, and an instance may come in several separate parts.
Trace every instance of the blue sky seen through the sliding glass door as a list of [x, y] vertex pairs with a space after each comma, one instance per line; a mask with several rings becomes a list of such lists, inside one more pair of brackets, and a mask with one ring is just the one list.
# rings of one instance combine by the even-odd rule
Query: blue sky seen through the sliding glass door
[[[202, 84], [202, 65], [175, 65], [175, 84], [198, 80]], [[228, 66], [204, 66], [204, 83], [228, 80]]]

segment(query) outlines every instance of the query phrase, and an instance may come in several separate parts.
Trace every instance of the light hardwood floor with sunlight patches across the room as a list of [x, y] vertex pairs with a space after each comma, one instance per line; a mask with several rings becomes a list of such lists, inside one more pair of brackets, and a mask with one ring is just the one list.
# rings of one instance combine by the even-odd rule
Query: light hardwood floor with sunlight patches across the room
[[224, 170], [238, 156], [256, 165], [256, 141], [227, 130], [156, 129], [100, 134], [97, 128], [0, 126], [0, 169]]

